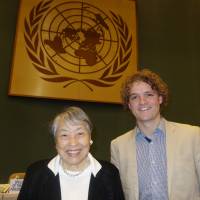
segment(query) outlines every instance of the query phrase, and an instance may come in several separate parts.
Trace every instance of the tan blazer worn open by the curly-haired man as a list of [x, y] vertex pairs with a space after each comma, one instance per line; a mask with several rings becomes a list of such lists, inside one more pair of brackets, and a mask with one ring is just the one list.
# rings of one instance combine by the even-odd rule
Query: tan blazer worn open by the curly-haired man
[[[200, 127], [164, 120], [169, 200], [200, 200]], [[136, 129], [111, 142], [126, 200], [138, 200]]]

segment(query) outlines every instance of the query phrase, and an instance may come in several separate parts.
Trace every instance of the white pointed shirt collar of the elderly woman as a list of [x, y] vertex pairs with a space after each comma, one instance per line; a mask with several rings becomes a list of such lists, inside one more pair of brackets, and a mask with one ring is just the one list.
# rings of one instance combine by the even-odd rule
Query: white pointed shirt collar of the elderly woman
[[[102, 166], [90, 153], [88, 154], [88, 158], [90, 160], [90, 167], [91, 167], [92, 174], [96, 176]], [[50, 160], [47, 165], [48, 168], [54, 173], [55, 176], [59, 172], [60, 159], [61, 159], [60, 155], [57, 155], [52, 160]]]

